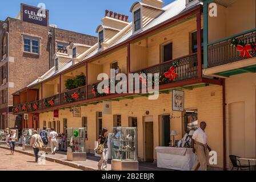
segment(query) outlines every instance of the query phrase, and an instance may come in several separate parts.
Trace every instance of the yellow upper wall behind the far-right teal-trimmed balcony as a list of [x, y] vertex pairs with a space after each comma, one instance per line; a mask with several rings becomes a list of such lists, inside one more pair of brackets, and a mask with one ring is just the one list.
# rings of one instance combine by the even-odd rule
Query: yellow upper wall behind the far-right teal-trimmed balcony
[[255, 0], [238, 0], [228, 7], [217, 8], [217, 17], [209, 16], [209, 42], [256, 28]]

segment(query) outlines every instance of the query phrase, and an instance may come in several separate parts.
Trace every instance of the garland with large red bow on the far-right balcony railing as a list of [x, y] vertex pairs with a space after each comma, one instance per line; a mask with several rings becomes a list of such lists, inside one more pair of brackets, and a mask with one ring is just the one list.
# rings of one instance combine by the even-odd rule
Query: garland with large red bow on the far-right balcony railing
[[249, 42], [246, 44], [241, 40], [232, 39], [230, 41], [230, 46], [237, 48], [237, 51], [241, 52], [240, 56], [243, 57], [243, 59], [249, 59], [253, 57], [251, 53], [256, 52], [256, 42]]

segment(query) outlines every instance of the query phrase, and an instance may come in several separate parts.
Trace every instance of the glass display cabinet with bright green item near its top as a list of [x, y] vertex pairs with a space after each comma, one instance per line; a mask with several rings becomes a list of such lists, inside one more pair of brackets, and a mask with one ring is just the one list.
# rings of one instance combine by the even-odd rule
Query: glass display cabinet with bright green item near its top
[[85, 127], [67, 128], [67, 160], [86, 160], [85, 140]]

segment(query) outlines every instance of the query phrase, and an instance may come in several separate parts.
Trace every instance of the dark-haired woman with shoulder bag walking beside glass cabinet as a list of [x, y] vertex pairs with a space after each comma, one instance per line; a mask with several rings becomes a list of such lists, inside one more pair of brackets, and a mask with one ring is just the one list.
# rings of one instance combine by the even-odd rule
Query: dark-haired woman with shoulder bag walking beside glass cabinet
[[99, 171], [101, 171], [101, 167], [103, 171], [107, 171], [107, 159], [109, 157], [109, 147], [107, 146], [109, 133], [107, 131], [107, 128], [102, 130], [101, 135], [98, 137], [97, 147], [95, 148], [95, 152], [101, 155], [101, 160], [98, 163]]

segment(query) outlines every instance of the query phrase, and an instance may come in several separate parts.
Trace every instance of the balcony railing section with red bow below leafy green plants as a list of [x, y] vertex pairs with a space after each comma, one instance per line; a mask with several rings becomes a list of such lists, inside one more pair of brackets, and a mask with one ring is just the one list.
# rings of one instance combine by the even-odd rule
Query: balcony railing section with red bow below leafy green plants
[[86, 100], [86, 86], [61, 93], [61, 105]]

